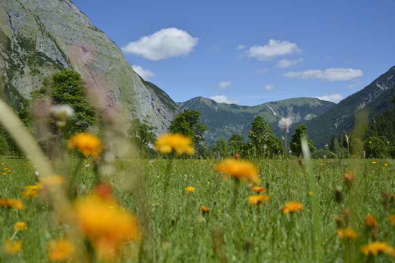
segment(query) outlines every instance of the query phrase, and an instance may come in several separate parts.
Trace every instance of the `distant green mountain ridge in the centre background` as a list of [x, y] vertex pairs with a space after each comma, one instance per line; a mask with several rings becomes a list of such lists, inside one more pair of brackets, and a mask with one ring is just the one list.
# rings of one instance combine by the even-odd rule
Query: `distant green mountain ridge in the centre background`
[[181, 110], [190, 109], [201, 113], [201, 121], [208, 127], [205, 141], [211, 145], [219, 138], [229, 139], [232, 134], [238, 133], [246, 138], [250, 124], [257, 115], [261, 115], [280, 136], [283, 132], [277, 129], [277, 121], [281, 117], [290, 117], [294, 122], [306, 121], [320, 116], [335, 105], [316, 98], [293, 98], [257, 106], [239, 106], [217, 103], [203, 97], [177, 104]]

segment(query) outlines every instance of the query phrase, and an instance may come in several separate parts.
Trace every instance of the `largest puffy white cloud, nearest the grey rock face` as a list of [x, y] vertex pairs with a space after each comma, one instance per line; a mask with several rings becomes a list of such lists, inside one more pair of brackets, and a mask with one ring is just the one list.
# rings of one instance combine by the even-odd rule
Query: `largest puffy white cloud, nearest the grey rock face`
[[193, 38], [188, 32], [177, 28], [164, 28], [128, 43], [122, 47], [122, 51], [150, 60], [160, 60], [188, 55], [196, 44], [197, 38]]

